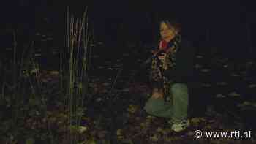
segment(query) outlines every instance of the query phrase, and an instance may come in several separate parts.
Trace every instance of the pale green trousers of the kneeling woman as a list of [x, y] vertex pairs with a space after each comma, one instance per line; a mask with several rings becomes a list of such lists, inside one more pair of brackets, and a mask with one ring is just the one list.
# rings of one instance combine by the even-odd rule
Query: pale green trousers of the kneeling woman
[[151, 115], [171, 118], [173, 123], [179, 123], [187, 118], [188, 88], [184, 83], [174, 83], [170, 86], [170, 92], [172, 95], [170, 102], [164, 99], [149, 98], [144, 109]]

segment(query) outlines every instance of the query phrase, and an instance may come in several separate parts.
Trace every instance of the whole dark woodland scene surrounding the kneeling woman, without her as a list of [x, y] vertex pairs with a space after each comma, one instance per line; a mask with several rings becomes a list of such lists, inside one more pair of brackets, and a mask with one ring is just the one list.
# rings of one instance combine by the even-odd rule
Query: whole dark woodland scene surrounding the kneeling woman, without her
[[[0, 7], [0, 143], [256, 143], [253, 1], [15, 0]], [[162, 18], [180, 23], [195, 48], [190, 126], [182, 132], [143, 109], [151, 97], [146, 61]]]

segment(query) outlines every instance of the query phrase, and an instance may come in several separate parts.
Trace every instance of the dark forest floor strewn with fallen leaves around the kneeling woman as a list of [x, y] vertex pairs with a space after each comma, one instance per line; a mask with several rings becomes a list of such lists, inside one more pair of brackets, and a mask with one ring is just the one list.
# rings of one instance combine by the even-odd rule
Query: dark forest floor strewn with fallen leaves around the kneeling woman
[[[52, 40], [42, 37], [45, 41]], [[80, 144], [256, 143], [254, 59], [235, 63], [222, 56], [207, 58], [206, 53], [197, 52], [197, 81], [189, 94], [191, 125], [176, 133], [170, 130], [167, 118], [148, 115], [143, 110], [150, 88], [146, 69], [138, 66], [146, 60], [140, 54], [146, 53], [147, 46], [135, 47], [127, 46], [127, 50], [117, 50], [116, 54], [110, 53], [102, 42], [94, 45], [89, 98], [80, 110], [80, 126], [72, 131], [78, 134]], [[25, 88], [13, 99], [15, 87], [9, 83], [13, 63], [7, 58], [1, 61], [0, 143], [67, 143], [67, 131], [72, 127], [67, 122], [67, 107], [60, 89], [56, 62], [59, 52], [52, 49], [53, 58], [47, 61], [40, 52], [34, 53], [39, 69], [29, 69], [31, 80], [33, 77], [39, 80], [40, 96], [30, 93], [33, 85], [26, 79]], [[13, 105], [17, 102], [21, 105]], [[200, 136], [198, 132], [202, 132], [202, 137], [195, 137], [195, 134]]]

